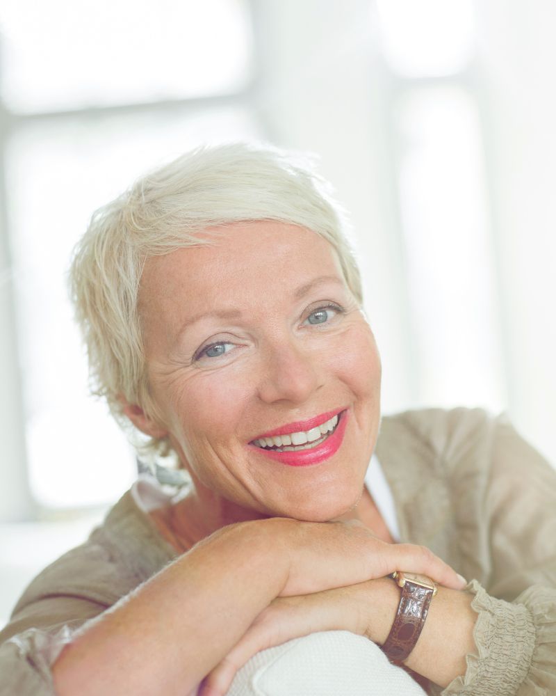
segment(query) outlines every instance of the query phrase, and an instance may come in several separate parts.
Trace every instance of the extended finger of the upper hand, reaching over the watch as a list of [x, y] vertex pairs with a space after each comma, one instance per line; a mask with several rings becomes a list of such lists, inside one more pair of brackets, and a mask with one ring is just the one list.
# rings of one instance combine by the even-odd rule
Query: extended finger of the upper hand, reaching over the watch
[[386, 554], [387, 571], [385, 575], [395, 570], [410, 571], [427, 575], [439, 585], [450, 587], [452, 590], [462, 590], [467, 580], [458, 575], [445, 561], [433, 553], [427, 546], [417, 544], [391, 544]]

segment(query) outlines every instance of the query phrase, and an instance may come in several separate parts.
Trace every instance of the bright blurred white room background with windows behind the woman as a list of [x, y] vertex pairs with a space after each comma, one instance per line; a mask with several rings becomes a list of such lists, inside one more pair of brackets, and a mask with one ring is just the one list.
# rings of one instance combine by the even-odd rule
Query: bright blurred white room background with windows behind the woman
[[0, 622], [136, 475], [87, 395], [72, 246], [199, 143], [320, 157], [385, 413], [507, 411], [556, 462], [555, 35], [552, 0], [3, 0]]

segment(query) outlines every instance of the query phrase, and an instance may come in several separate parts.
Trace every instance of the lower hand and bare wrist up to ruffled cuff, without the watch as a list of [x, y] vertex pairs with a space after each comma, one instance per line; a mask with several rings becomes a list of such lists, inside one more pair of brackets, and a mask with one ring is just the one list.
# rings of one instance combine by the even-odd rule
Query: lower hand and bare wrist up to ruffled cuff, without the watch
[[[466, 655], [475, 652], [477, 614], [467, 592], [439, 587], [423, 633], [407, 660], [417, 674], [448, 684], [466, 671]], [[390, 578], [302, 596], [279, 597], [256, 617], [231, 651], [202, 682], [199, 696], [222, 696], [236, 672], [256, 652], [318, 631], [350, 631], [382, 645], [400, 601]]]

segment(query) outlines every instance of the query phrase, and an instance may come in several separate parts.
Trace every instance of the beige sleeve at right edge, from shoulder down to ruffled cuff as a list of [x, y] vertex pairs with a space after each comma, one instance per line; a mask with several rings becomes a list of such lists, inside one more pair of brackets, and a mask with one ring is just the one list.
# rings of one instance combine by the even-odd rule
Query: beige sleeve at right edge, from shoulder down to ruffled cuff
[[490, 420], [488, 441], [477, 509], [489, 562], [482, 583], [467, 587], [477, 653], [464, 677], [436, 693], [556, 694], [556, 471], [505, 416]]

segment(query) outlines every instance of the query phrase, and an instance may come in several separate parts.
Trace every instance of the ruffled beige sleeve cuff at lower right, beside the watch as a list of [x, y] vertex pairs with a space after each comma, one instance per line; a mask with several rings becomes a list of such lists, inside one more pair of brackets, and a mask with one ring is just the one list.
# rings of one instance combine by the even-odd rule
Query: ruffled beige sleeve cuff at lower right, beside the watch
[[477, 654], [441, 696], [548, 696], [556, 693], [556, 590], [537, 585], [512, 603], [496, 599], [472, 580], [471, 607], [478, 614]]

